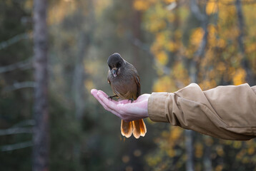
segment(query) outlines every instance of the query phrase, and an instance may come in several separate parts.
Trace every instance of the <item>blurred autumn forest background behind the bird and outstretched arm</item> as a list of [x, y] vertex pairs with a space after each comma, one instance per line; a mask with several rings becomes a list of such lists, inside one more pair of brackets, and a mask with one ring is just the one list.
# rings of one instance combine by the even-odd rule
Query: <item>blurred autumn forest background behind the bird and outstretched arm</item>
[[[33, 128], [47, 122], [34, 115], [33, 4], [0, 1], [5, 171], [32, 170], [33, 137], [41, 134]], [[114, 52], [137, 68], [142, 93], [174, 92], [192, 82], [203, 90], [255, 86], [255, 9], [255, 0], [49, 0], [46, 170], [256, 170], [255, 140], [218, 140], [149, 119], [144, 138], [125, 139], [120, 119], [90, 95], [92, 88], [112, 94], [107, 58]]]

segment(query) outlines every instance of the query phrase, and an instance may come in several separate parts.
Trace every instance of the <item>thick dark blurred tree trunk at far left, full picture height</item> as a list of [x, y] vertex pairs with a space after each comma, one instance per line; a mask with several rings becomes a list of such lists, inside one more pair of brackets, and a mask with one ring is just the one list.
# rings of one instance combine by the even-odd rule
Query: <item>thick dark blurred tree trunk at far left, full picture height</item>
[[34, 137], [32, 170], [49, 170], [46, 0], [34, 0]]

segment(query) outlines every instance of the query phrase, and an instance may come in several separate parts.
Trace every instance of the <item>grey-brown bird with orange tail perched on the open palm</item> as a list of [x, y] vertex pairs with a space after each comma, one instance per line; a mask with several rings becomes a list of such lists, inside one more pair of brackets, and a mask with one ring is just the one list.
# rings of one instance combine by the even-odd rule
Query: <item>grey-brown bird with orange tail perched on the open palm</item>
[[[140, 95], [140, 79], [137, 69], [129, 62], [125, 61], [119, 53], [113, 53], [107, 59], [109, 71], [107, 81], [110, 84], [114, 95], [109, 96], [120, 100], [130, 100], [131, 103]], [[132, 134], [134, 138], [144, 137], [147, 133], [143, 119], [132, 121], [121, 121], [121, 133], [126, 138]]]

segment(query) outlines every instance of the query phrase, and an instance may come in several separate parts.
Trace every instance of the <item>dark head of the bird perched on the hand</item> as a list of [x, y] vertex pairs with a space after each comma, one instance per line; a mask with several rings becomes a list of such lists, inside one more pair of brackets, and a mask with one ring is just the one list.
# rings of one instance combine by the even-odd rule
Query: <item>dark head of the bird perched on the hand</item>
[[109, 71], [111, 71], [114, 77], [117, 77], [124, 67], [124, 59], [120, 56], [119, 53], [114, 53], [107, 59], [107, 64], [109, 66]]

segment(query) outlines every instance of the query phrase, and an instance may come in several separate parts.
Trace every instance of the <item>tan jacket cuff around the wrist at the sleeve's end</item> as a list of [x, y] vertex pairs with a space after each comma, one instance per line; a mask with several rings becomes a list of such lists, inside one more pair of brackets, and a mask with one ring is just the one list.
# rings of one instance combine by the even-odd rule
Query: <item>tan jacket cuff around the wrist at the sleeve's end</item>
[[164, 115], [165, 102], [168, 93], [152, 93], [149, 96], [147, 112], [149, 113], [150, 120], [154, 122], [168, 123]]

